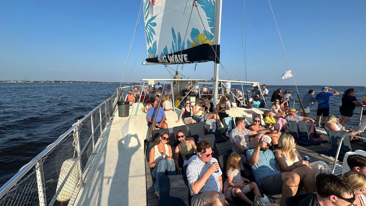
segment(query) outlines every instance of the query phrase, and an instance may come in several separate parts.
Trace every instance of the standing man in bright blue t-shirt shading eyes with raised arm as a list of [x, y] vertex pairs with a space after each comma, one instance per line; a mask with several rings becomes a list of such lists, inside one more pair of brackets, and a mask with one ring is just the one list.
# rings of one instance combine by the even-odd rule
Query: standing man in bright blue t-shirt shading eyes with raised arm
[[[322, 122], [326, 121], [326, 118], [329, 117], [329, 98], [330, 96], [336, 96], [339, 95], [337, 91], [330, 87], [323, 87], [322, 92], [318, 93], [315, 97], [315, 100], [318, 100], [318, 110], [317, 110], [317, 126], [319, 126], [320, 123], [320, 116], [323, 115]], [[332, 90], [334, 93], [329, 92], [329, 90]]]

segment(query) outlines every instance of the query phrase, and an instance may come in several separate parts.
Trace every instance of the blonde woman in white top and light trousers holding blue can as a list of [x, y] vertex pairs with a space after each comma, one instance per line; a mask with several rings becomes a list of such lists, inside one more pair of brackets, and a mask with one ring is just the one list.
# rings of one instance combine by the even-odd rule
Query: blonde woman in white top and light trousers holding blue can
[[290, 134], [284, 134], [280, 137], [278, 148], [273, 152], [275, 152], [275, 157], [280, 168], [285, 172], [291, 172], [295, 168], [305, 165], [313, 170], [314, 177], [318, 176], [320, 173], [332, 173], [329, 166], [323, 161], [309, 163], [308, 161], [303, 160], [299, 151], [296, 150], [295, 139]]

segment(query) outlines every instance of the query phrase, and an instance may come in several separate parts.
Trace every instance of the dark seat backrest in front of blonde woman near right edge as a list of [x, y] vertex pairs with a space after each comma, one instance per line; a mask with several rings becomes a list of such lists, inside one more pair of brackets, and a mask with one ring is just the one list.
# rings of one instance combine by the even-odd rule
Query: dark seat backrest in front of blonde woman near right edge
[[[348, 134], [348, 132], [344, 131], [344, 130], [343, 131], [332, 131], [332, 130], [329, 131], [330, 146], [332, 147], [332, 156], [333, 157], [336, 157], [338, 146], [339, 146], [339, 140], [341, 139], [341, 137], [343, 135], [347, 135], [347, 134]], [[344, 154], [346, 154], [346, 152], [350, 152], [350, 151], [352, 151], [350, 138], [345, 137], [343, 139], [341, 150], [339, 151], [338, 159], [340, 161], [343, 161]]]

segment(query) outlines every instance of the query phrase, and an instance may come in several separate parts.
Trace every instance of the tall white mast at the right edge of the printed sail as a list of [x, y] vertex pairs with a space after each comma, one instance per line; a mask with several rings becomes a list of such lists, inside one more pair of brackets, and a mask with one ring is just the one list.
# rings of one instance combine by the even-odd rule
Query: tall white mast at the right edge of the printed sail
[[[221, 34], [221, 12], [222, 12], [222, 0], [216, 0], [216, 7], [215, 7], [215, 43], [214, 45], [220, 45], [220, 34]], [[215, 48], [216, 53], [216, 48]], [[216, 56], [217, 58], [217, 56]], [[218, 86], [219, 86], [219, 66], [220, 63], [215, 63], [213, 66], [213, 84], [212, 84], [212, 91], [213, 91], [213, 103], [214, 105], [218, 104], [219, 101], [217, 100], [218, 96]]]

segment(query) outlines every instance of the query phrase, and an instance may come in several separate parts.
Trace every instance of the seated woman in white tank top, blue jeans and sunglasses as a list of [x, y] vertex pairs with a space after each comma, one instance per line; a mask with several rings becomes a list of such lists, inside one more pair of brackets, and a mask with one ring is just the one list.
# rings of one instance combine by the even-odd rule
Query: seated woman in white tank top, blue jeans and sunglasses
[[169, 134], [163, 132], [159, 138], [155, 140], [155, 146], [150, 149], [149, 166], [154, 168], [152, 176], [155, 181], [155, 195], [159, 196], [159, 179], [165, 175], [165, 170], [168, 170], [168, 175], [175, 174], [175, 164], [172, 159], [172, 147], [169, 143]]

